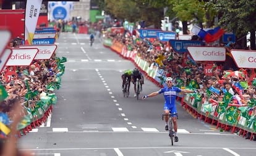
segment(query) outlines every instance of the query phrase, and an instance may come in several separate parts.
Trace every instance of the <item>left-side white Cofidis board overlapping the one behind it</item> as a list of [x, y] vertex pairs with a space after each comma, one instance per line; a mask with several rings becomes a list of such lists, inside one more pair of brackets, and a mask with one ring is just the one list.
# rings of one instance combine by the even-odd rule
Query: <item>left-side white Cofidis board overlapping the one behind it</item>
[[37, 53], [37, 48], [14, 48], [6, 66], [30, 65]]

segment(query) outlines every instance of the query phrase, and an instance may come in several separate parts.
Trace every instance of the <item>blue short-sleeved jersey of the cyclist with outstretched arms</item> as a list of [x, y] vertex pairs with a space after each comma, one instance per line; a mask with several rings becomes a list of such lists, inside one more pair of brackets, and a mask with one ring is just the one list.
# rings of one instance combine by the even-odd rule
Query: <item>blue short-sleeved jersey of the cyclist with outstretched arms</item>
[[173, 106], [175, 105], [176, 101], [176, 94], [177, 92], [181, 92], [180, 88], [177, 87], [165, 87], [162, 88], [158, 93], [161, 94], [163, 93], [164, 99], [165, 99], [165, 105]]

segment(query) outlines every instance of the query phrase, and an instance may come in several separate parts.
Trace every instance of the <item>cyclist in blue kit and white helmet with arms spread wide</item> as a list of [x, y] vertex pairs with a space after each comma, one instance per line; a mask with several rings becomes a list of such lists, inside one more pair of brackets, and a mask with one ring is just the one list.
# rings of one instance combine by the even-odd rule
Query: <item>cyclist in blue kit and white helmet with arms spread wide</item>
[[[153, 97], [153, 96], [157, 96], [158, 94], [163, 93], [165, 102], [164, 102], [164, 114], [165, 116], [165, 130], [168, 131], [168, 114], [169, 113], [177, 113], [176, 110], [176, 105], [175, 105], [175, 101], [176, 101], [176, 94], [177, 92], [182, 92], [182, 93], [192, 93], [192, 92], [196, 92], [196, 91], [192, 91], [189, 89], [180, 89], [177, 87], [173, 86], [173, 78], [168, 77], [166, 78], [166, 84], [167, 87], [164, 87], [162, 89], [160, 89], [160, 91], [156, 91], [156, 92], [152, 92], [151, 94], [148, 94], [147, 96], [143, 96], [142, 99], [147, 99], [147, 97]], [[171, 111], [171, 112], [169, 112]], [[174, 125], [174, 138], [175, 138], [175, 142], [179, 141], [178, 136], [177, 136], [177, 115], [173, 115], [173, 125]]]

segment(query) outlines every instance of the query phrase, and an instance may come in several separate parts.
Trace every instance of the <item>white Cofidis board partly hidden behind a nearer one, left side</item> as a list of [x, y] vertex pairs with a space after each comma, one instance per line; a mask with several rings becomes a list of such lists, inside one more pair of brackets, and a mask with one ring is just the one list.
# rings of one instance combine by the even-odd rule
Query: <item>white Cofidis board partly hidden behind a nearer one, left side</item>
[[39, 49], [36, 54], [35, 60], [50, 59], [57, 49], [57, 45], [36, 45], [36, 46], [20, 46], [20, 48], [37, 48]]

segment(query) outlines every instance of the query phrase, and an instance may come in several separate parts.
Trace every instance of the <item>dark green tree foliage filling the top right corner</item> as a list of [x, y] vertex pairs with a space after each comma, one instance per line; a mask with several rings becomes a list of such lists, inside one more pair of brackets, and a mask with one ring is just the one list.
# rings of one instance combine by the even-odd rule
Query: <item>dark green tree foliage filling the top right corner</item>
[[[255, 1], [247, 0], [211, 0], [215, 4], [216, 10], [220, 12], [220, 23], [228, 31], [234, 31], [242, 41], [247, 33], [250, 31], [250, 46], [251, 49], [255, 48], [255, 29], [256, 29], [256, 3]], [[246, 42], [245, 42], [246, 43]], [[246, 45], [242, 45], [245, 49]]]

